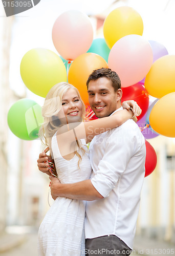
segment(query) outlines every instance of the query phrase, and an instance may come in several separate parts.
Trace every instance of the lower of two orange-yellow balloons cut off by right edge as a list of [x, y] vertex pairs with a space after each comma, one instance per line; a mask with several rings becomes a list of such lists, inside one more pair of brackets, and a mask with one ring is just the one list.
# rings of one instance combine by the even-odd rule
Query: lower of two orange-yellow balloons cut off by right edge
[[163, 96], [150, 112], [153, 130], [167, 137], [175, 137], [175, 92]]

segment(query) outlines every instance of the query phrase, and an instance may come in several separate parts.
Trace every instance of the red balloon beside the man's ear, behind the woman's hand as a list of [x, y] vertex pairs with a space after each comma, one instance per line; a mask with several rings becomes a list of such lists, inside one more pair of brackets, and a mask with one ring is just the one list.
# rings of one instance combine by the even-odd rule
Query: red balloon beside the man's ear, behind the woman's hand
[[140, 106], [142, 114], [137, 117], [140, 120], [146, 114], [149, 106], [149, 95], [146, 93], [144, 86], [141, 83], [136, 83], [133, 86], [122, 88], [122, 91], [121, 102], [133, 99]]

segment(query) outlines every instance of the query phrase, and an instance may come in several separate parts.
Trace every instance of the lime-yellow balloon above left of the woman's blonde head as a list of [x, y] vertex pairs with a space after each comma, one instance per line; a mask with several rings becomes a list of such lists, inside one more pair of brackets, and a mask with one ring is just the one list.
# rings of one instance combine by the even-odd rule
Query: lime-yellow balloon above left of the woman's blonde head
[[58, 82], [67, 81], [67, 72], [61, 58], [48, 49], [28, 51], [20, 63], [20, 75], [33, 93], [46, 97]]

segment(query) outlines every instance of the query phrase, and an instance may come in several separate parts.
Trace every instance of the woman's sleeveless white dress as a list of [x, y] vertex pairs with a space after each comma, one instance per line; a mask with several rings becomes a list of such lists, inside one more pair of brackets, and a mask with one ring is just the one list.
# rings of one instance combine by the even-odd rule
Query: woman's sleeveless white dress
[[[81, 140], [86, 153], [80, 149], [78, 156], [65, 160], [59, 152], [56, 133], [52, 137], [52, 152], [61, 183], [75, 183], [89, 179], [91, 163], [85, 140]], [[85, 201], [58, 197], [38, 230], [38, 256], [85, 255], [84, 236]]]

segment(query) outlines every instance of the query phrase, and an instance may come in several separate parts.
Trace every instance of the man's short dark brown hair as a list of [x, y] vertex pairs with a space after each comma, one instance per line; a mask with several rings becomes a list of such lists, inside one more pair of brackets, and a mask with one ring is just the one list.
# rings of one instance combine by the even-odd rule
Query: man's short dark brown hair
[[117, 92], [118, 89], [121, 89], [121, 81], [119, 76], [115, 71], [112, 71], [111, 69], [107, 69], [107, 68], [94, 70], [90, 74], [88, 80], [86, 81], [87, 88], [89, 87], [89, 83], [91, 80], [95, 81], [100, 77], [106, 77], [108, 80], [110, 80], [112, 82], [112, 86], [115, 92]]

